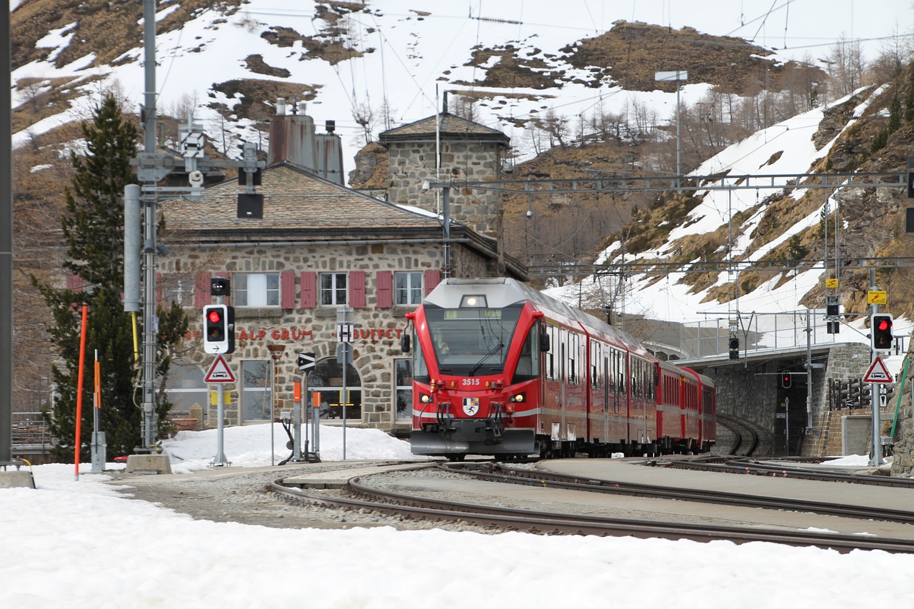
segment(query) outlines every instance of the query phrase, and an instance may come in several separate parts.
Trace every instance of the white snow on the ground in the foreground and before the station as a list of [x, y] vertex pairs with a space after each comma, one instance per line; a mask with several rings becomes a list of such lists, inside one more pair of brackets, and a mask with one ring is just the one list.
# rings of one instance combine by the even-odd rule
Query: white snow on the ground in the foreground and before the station
[[[275, 433], [284, 432], [276, 425]], [[339, 428], [322, 426], [324, 461], [339, 458], [341, 438]], [[226, 429], [232, 467], [270, 465], [270, 445], [265, 425]], [[215, 432], [181, 432], [165, 450], [175, 455], [175, 473], [206, 468]], [[349, 429], [346, 456], [409, 458], [409, 447], [377, 430]], [[866, 457], [843, 463], [865, 465]], [[193, 520], [121, 497], [103, 484], [108, 475], [74, 474], [73, 465], [39, 465], [37, 490], [0, 489], [0, 606], [784, 609], [914, 598], [914, 555], [517, 532], [271, 529]]]

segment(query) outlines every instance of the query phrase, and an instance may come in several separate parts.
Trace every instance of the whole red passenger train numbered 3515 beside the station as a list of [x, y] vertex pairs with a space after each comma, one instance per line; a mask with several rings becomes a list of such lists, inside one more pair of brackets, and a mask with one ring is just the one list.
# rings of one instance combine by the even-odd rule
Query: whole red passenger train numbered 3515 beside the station
[[715, 441], [711, 379], [524, 283], [446, 279], [406, 316], [413, 454], [607, 457]]

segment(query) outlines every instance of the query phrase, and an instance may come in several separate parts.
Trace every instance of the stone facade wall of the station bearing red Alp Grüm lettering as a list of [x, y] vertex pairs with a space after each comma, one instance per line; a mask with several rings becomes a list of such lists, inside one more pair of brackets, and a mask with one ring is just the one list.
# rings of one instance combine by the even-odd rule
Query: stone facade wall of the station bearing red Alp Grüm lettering
[[[228, 274], [232, 272], [293, 271], [295, 277], [295, 308], [235, 307], [236, 348], [224, 356], [237, 376], [243, 360], [270, 360], [268, 345], [283, 345], [282, 357], [276, 364], [275, 414], [292, 409], [293, 384], [302, 379], [297, 366], [297, 354], [314, 352], [317, 358], [334, 358], [339, 344], [335, 337], [336, 310], [334, 306], [301, 307], [301, 272], [366, 272], [366, 307], [354, 311], [356, 328], [362, 330], [354, 343], [353, 365], [361, 379], [362, 424], [389, 431], [395, 427], [394, 358], [409, 357], [400, 352], [399, 337], [407, 329], [404, 315], [414, 306], [377, 308], [377, 271], [426, 271], [441, 268], [441, 249], [430, 245], [340, 245], [276, 248], [218, 248], [202, 249], [169, 244], [171, 253], [159, 257], [161, 283], [166, 285], [170, 274], [193, 277], [197, 272]], [[483, 272], [486, 264], [473, 251], [452, 248], [454, 258], [468, 272]], [[186, 279], [191, 281], [191, 279]], [[234, 285], [233, 285], [234, 288]], [[209, 302], [207, 300], [207, 302]], [[230, 302], [230, 297], [228, 302]], [[178, 348], [182, 357], [196, 362], [206, 371], [213, 356], [202, 351], [200, 312], [186, 308], [191, 332]], [[225, 415], [228, 424], [239, 424], [239, 386], [226, 384]], [[209, 426], [216, 424], [210, 409]], [[408, 425], [409, 423], [407, 423]]]

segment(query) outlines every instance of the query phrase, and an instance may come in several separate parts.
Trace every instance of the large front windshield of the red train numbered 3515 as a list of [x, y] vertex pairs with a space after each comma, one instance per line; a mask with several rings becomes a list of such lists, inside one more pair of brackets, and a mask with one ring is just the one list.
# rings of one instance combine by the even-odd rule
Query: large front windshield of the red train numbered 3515
[[521, 306], [501, 309], [425, 307], [442, 374], [482, 376], [505, 369]]

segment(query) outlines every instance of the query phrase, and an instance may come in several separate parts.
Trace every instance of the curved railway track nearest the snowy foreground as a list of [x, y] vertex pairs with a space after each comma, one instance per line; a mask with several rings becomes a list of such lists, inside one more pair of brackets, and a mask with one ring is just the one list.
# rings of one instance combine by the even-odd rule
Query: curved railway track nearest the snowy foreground
[[[501, 467], [492, 464], [449, 464], [445, 467], [441, 465], [420, 465], [415, 470], [419, 471], [430, 467], [439, 467], [451, 474], [482, 476], [490, 480], [498, 479], [500, 482], [512, 484], [549, 488], [564, 485], [573, 490], [610, 492], [609, 486], [600, 484], [605, 481], [559, 480], [557, 478], [563, 476], [548, 473], [547, 476], [537, 479], [527, 470], [513, 470], [512, 468], [503, 468], [500, 472], [484, 471], [486, 468], [494, 470], [497, 467]], [[470, 471], [464, 472], [462, 471], [464, 469], [469, 469]], [[528, 475], [522, 472], [527, 472]], [[400, 470], [400, 473], [402, 473], [402, 470]], [[270, 487], [274, 493], [292, 501], [317, 503], [334, 508], [371, 510], [388, 515], [397, 515], [401, 518], [429, 519], [442, 522], [462, 521], [483, 527], [546, 535], [632, 536], [641, 539], [662, 538], [702, 542], [729, 540], [735, 543], [771, 541], [793, 546], [830, 548], [841, 552], [850, 550], [886, 550], [914, 553], [914, 540], [907, 539], [862, 537], [860, 535], [811, 532], [808, 530], [762, 529], [716, 524], [634, 520], [556, 512], [553, 509], [539, 510], [532, 505], [529, 508], [505, 508], [486, 505], [482, 501], [480, 503], [470, 503], [450, 499], [420, 497], [373, 484], [372, 478], [374, 477], [374, 475], [363, 475], [352, 478], [341, 493], [328, 493], [324, 490], [288, 486], [284, 484], [282, 479], [272, 482]], [[610, 483], [611, 485], [612, 483]], [[582, 486], [582, 488], [578, 486]], [[650, 492], [665, 492], [666, 490], [668, 489], [659, 491], [654, 489], [652, 491], [645, 486], [641, 489], [628, 488], [619, 492], [645, 494], [644, 496], [647, 496], [646, 494]], [[657, 496], [653, 495], [652, 497]], [[742, 500], [747, 499], [747, 497], [740, 498]], [[756, 498], [760, 499], [760, 497]], [[773, 508], [774, 505], [770, 503], [766, 507]], [[842, 515], [846, 516], [846, 513]], [[872, 518], [872, 514], [869, 517], [859, 516], [858, 518]], [[908, 518], [911, 518], [910, 514]]]

